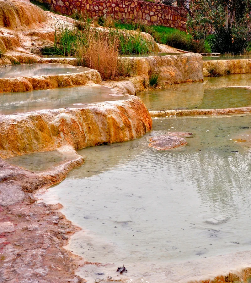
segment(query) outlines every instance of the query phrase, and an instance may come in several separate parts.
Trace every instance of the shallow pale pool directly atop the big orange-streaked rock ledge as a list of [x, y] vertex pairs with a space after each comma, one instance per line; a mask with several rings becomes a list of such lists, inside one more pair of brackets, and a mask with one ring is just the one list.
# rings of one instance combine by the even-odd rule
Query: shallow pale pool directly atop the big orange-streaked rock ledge
[[105, 86], [77, 86], [0, 94], [0, 114], [24, 113], [42, 109], [84, 108], [104, 101], [125, 100]]

